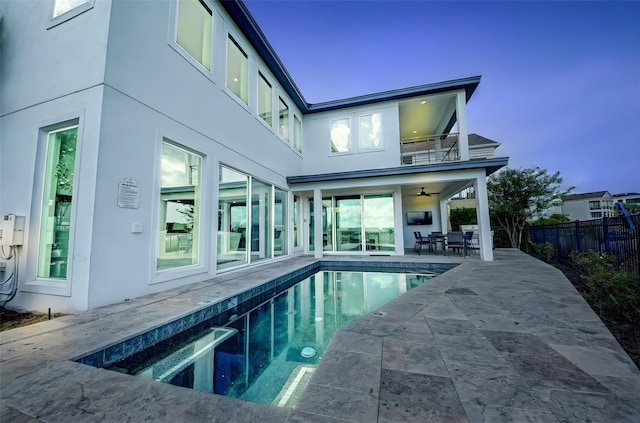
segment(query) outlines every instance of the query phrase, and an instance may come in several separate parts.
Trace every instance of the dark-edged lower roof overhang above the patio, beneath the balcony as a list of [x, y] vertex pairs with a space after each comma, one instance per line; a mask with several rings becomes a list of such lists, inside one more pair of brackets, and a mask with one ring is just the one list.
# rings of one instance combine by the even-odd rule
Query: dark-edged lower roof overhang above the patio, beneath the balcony
[[484, 169], [487, 176], [509, 164], [508, 157], [496, 157], [463, 162], [442, 162], [437, 164], [399, 166], [384, 169], [354, 170], [349, 172], [321, 173], [315, 175], [288, 176], [289, 185], [340, 181], [345, 179], [381, 178], [387, 176], [414, 175], [418, 173], [452, 172], [459, 170]]

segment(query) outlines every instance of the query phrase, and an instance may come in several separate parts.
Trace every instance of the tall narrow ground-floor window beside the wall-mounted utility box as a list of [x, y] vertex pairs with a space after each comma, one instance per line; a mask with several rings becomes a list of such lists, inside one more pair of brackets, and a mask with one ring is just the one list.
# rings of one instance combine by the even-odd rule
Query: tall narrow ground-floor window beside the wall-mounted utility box
[[67, 278], [78, 126], [51, 131], [47, 138], [38, 277]]

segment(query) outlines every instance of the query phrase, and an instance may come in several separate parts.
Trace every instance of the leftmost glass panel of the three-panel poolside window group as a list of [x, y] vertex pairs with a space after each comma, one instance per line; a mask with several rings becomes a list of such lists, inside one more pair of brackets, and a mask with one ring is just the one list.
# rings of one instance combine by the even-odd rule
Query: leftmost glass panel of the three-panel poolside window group
[[218, 270], [248, 262], [247, 195], [249, 177], [220, 166], [218, 191]]

